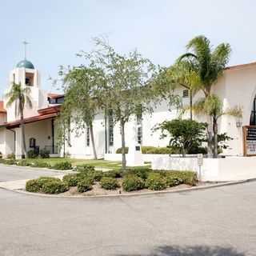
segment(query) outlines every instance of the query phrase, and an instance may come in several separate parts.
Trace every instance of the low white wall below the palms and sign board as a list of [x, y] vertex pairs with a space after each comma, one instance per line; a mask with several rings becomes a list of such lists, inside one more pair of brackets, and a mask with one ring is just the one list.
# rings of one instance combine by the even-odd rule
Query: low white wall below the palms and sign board
[[203, 158], [201, 170], [198, 158], [158, 156], [151, 162], [154, 170], [193, 170], [202, 181], [224, 182], [256, 178], [256, 157]]

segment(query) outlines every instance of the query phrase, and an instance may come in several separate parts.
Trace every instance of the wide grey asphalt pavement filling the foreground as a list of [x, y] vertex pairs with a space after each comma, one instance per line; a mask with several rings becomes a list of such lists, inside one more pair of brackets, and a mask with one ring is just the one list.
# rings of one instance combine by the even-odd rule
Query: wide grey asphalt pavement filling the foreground
[[0, 189], [0, 255], [256, 255], [256, 182], [132, 198]]

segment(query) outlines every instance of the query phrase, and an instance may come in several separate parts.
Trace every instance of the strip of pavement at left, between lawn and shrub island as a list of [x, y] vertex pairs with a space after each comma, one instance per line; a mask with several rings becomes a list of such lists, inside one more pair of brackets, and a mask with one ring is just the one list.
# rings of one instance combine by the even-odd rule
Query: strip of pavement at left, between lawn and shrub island
[[34, 168], [27, 168], [22, 166], [0, 165], [0, 182], [38, 178], [40, 176], [56, 176], [58, 174], [62, 173], [50, 170], [37, 170]]

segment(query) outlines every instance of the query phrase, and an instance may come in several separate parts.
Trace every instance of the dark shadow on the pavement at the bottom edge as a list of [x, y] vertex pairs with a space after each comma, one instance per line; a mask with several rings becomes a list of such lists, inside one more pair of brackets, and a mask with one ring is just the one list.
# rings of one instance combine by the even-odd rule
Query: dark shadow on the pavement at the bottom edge
[[231, 247], [159, 246], [149, 254], [116, 254], [116, 256], [245, 256]]

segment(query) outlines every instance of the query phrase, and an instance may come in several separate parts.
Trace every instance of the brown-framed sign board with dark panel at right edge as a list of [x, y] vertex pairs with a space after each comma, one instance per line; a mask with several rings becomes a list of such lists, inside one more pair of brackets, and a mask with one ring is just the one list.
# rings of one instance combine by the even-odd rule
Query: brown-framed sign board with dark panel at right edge
[[256, 155], [256, 126], [243, 126], [243, 155]]

